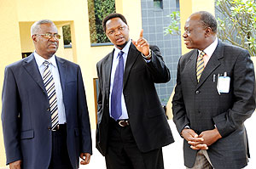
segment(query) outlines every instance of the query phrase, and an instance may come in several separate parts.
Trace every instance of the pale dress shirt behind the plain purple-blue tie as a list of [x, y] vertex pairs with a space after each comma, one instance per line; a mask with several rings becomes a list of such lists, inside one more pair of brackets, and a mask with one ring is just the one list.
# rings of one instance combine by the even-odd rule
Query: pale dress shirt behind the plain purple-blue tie
[[[131, 46], [131, 39], [127, 42], [127, 44], [125, 45], [125, 48], [122, 49], [122, 51], [124, 52], [123, 54], [123, 59], [124, 59], [124, 70], [125, 70], [125, 63], [126, 63], [126, 59], [127, 59], [127, 55], [129, 52], [129, 48]], [[116, 70], [117, 65], [119, 64], [119, 52], [121, 50], [119, 48], [114, 47], [114, 52], [113, 52], [113, 63], [112, 63], [112, 70], [111, 70], [111, 79], [110, 79], [110, 95], [109, 95], [109, 114], [111, 115], [111, 94], [112, 94], [112, 90], [113, 90], [113, 79], [114, 79], [114, 73]], [[125, 71], [124, 71], [124, 75], [125, 75]], [[125, 105], [125, 98], [124, 98], [124, 93], [122, 93], [121, 96], [121, 107], [122, 107], [122, 115], [119, 117], [119, 119], [129, 119], [128, 113], [127, 113], [127, 108]]]

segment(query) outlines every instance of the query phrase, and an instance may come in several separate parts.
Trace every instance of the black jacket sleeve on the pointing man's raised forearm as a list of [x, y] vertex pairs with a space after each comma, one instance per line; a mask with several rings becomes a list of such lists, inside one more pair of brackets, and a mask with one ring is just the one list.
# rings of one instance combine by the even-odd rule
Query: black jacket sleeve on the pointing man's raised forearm
[[157, 46], [150, 46], [152, 56], [151, 62], [148, 62], [148, 70], [155, 83], [169, 82], [171, 79], [170, 71], [166, 67], [160, 49]]

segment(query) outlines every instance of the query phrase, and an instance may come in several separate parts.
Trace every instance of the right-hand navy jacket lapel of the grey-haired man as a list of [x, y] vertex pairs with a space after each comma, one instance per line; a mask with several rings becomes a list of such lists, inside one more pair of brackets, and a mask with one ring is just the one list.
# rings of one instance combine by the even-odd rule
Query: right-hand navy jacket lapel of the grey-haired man
[[64, 59], [61, 59], [59, 57], [55, 57], [55, 59], [60, 74], [62, 93], [64, 93], [67, 82], [67, 64], [65, 64]]

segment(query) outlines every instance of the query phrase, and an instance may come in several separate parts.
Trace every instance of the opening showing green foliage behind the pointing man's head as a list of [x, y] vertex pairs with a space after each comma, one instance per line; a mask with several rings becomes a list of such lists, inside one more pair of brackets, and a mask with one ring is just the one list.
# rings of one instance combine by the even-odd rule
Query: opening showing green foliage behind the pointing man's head
[[102, 20], [115, 12], [114, 0], [88, 0], [90, 43], [109, 42], [102, 28]]

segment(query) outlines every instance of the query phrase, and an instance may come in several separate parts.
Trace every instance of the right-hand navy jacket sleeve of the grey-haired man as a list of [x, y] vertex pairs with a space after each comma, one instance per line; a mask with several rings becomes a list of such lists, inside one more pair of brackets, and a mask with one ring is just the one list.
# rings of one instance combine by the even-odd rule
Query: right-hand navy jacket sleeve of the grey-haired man
[[80, 132], [82, 134], [81, 137], [81, 148], [80, 153], [90, 153], [92, 154], [92, 145], [91, 145], [91, 133], [90, 133], [90, 119], [89, 119], [89, 112], [85, 97], [84, 91], [84, 82], [83, 77], [81, 74], [81, 70], [79, 67], [78, 70], [78, 106], [79, 106], [79, 126]]

